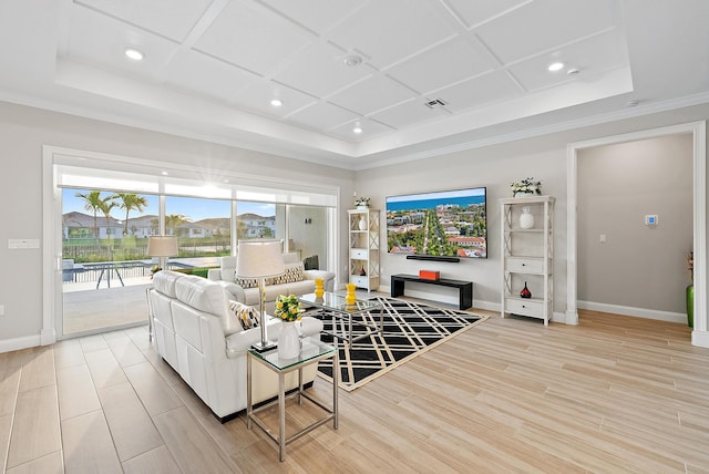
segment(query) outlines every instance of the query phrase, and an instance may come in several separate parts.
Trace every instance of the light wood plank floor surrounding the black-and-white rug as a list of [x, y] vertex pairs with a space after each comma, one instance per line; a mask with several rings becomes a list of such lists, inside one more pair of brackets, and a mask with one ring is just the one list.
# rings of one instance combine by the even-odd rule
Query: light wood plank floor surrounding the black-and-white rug
[[[323, 400], [330, 390], [316, 380]], [[289, 405], [289, 423], [312, 416]], [[709, 473], [709, 350], [677, 323], [495, 316], [340, 391], [339, 430], [277, 458], [243, 416], [219, 424], [145, 328], [0, 354], [0, 463], [12, 474]]]

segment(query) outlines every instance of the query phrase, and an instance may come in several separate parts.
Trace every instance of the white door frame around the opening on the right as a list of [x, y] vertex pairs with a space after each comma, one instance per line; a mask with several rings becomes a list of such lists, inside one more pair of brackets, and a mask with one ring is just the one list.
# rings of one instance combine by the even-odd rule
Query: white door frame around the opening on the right
[[691, 343], [709, 348], [707, 317], [707, 124], [705, 121], [569, 143], [567, 157], [567, 258], [566, 323], [578, 323], [577, 308], [577, 188], [578, 151], [594, 146], [634, 142], [657, 136], [692, 134], [693, 142], [693, 251], [695, 251], [695, 328]]

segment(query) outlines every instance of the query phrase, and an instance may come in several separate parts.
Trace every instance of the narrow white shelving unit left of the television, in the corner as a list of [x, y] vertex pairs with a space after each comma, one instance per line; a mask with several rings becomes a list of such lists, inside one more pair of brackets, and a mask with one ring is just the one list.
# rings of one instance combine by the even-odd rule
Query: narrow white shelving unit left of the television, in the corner
[[[379, 288], [379, 210], [349, 209], [349, 282], [372, 291]], [[364, 270], [364, 275], [362, 274]]]

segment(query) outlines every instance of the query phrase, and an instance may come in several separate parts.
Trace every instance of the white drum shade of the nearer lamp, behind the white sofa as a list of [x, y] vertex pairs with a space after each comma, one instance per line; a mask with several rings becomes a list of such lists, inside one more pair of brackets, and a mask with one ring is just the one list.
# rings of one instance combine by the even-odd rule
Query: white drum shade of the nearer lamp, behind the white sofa
[[275, 277], [286, 271], [280, 240], [239, 240], [236, 274], [242, 278]]

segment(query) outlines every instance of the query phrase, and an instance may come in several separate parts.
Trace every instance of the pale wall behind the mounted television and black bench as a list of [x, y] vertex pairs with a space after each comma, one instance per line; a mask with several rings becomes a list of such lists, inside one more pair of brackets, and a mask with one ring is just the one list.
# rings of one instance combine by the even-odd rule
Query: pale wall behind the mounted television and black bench
[[[485, 186], [487, 188], [487, 258], [461, 259], [458, 264], [407, 260], [403, 255], [387, 254], [386, 226], [382, 225], [382, 285], [389, 288], [391, 275], [439, 270], [441, 278], [473, 281], [473, 306], [499, 309], [501, 288], [500, 198], [512, 197], [510, 184], [525, 177], [542, 181], [542, 193], [556, 196], [554, 234], [555, 280], [565, 281], [566, 272], [566, 151], [531, 150], [520, 153], [516, 145], [471, 150], [414, 163], [360, 172], [357, 192], [372, 197], [372, 207], [384, 208], [384, 198], [398, 194], [424, 193]], [[384, 214], [382, 213], [382, 219]], [[409, 291], [407, 295], [414, 295]], [[435, 299], [452, 301], [455, 293], [445, 288], [411, 286], [419, 295], [435, 292]], [[555, 310], [565, 310], [566, 291], [557, 284]]]

